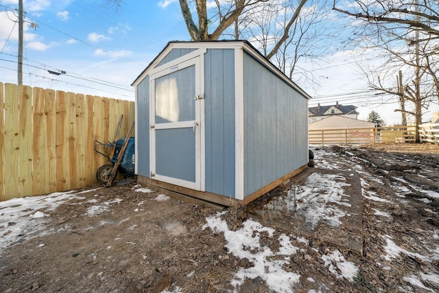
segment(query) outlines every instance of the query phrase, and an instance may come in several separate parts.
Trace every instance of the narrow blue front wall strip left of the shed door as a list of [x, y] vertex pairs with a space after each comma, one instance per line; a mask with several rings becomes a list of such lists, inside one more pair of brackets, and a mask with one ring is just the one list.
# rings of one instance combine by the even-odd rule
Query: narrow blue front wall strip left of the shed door
[[137, 174], [150, 177], [150, 76], [137, 86]]

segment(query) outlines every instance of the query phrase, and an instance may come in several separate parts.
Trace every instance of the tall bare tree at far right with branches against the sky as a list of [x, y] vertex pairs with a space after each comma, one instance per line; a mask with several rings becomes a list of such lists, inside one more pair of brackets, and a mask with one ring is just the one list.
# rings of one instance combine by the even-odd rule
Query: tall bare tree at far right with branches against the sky
[[[379, 73], [369, 79], [372, 89], [401, 97], [412, 102], [414, 110], [401, 107], [402, 113], [413, 115], [416, 126], [416, 142], [419, 142], [418, 125], [422, 124], [423, 109], [428, 108], [434, 97], [439, 99], [437, 73], [439, 24], [438, 1], [352, 1], [350, 11], [336, 8], [356, 20], [364, 21], [364, 38], [367, 45], [383, 50], [388, 61], [375, 69]], [[388, 86], [399, 70], [404, 70], [402, 86]], [[374, 75], [369, 73], [369, 75]]]

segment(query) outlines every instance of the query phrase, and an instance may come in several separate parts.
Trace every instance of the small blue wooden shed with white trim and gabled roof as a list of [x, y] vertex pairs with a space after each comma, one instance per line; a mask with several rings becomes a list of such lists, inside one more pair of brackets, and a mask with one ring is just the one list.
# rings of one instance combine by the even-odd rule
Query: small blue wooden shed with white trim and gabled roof
[[246, 204], [307, 167], [310, 97], [245, 40], [170, 42], [132, 85], [141, 184]]

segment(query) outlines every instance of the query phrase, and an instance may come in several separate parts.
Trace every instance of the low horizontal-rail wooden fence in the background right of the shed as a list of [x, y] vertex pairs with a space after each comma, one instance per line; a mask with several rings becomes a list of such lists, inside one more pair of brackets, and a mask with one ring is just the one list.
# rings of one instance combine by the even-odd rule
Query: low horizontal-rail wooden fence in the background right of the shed
[[[419, 126], [420, 141], [439, 143], [439, 124]], [[414, 126], [309, 130], [309, 144], [414, 143]]]

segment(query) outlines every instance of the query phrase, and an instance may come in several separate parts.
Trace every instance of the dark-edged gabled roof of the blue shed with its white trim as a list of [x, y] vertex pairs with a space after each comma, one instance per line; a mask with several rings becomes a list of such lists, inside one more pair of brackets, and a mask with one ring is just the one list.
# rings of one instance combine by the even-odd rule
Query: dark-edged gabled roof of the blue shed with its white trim
[[158, 61], [160, 60], [161, 56], [165, 55], [165, 52], [169, 50], [172, 47], [209, 47], [213, 49], [217, 48], [232, 48], [232, 47], [241, 47], [245, 51], [247, 51], [249, 54], [251, 54], [254, 58], [257, 58], [263, 64], [270, 69], [274, 74], [276, 74], [279, 78], [283, 79], [288, 84], [292, 85], [296, 90], [298, 90], [304, 97], [307, 99], [311, 99], [311, 96], [308, 95], [300, 86], [298, 86], [295, 82], [293, 82], [285, 73], [283, 73], [281, 70], [279, 70], [276, 66], [270, 62], [265, 56], [261, 54], [253, 45], [248, 42], [247, 40], [202, 40], [202, 41], [179, 41], [179, 40], [172, 40], [167, 43], [167, 45], [162, 49], [162, 51], [150, 62], [150, 64], [137, 76], [136, 80], [132, 82], [132, 86], [135, 86], [139, 83], [139, 80], [141, 80], [147, 71], [154, 67]]

